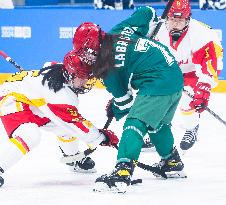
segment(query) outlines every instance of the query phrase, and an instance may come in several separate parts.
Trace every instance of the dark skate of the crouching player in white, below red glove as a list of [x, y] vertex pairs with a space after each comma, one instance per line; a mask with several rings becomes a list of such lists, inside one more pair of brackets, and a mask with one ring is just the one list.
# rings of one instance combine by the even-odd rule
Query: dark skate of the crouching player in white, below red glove
[[67, 163], [72, 172], [95, 173], [95, 162], [90, 157], [85, 157], [81, 161]]

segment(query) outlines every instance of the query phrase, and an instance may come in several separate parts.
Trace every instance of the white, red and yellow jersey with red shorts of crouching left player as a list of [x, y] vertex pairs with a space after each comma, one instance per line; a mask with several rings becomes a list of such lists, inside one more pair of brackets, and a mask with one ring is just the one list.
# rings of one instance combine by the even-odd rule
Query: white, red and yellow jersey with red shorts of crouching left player
[[22, 71], [1, 86], [0, 119], [8, 136], [24, 123], [51, 123], [61, 128], [57, 135], [76, 137], [91, 147], [99, 144], [98, 129], [78, 112], [77, 95], [67, 84], [55, 93], [42, 85], [42, 77], [38, 71]]

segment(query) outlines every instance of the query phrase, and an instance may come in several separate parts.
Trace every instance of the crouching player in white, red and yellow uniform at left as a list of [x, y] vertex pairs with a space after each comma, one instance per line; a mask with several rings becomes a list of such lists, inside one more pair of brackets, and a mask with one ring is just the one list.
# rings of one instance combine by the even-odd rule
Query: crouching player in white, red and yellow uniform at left
[[[78, 111], [78, 93], [92, 88], [87, 85], [92, 77], [90, 67], [72, 50], [63, 64], [15, 73], [1, 85], [0, 119], [10, 143], [0, 150], [0, 186], [1, 175], [39, 144], [41, 130], [56, 135], [65, 155], [79, 152], [78, 140], [91, 149], [118, 143], [112, 131], [97, 129]], [[85, 157], [69, 165], [88, 172], [95, 163]]]

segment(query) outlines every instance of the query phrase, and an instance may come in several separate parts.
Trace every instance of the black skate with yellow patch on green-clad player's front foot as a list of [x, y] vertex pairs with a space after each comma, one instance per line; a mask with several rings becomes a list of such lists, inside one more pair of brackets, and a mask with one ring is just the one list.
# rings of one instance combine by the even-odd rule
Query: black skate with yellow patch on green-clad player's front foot
[[111, 174], [105, 174], [96, 179], [93, 191], [125, 193], [127, 186], [131, 184], [133, 170], [132, 162], [117, 163]]

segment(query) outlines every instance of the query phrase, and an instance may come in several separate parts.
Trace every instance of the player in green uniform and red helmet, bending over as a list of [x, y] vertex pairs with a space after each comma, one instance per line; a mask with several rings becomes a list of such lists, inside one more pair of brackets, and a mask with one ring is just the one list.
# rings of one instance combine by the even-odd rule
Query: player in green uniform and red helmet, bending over
[[[157, 20], [154, 10], [150, 18]], [[108, 116], [120, 120], [127, 115], [116, 166], [111, 174], [96, 179], [96, 191], [126, 192], [134, 160], [139, 158], [147, 133], [151, 133], [161, 157], [156, 166], [168, 176], [184, 176], [184, 164], [174, 147], [170, 127], [182, 93], [182, 72], [167, 47], [142, 37], [146, 27], [130, 24], [135, 20], [139, 21], [136, 12], [110, 33], [85, 22], [73, 38], [74, 49], [82, 62], [93, 66], [94, 76], [102, 79], [113, 95], [107, 105]], [[132, 90], [136, 92], [134, 100]]]

